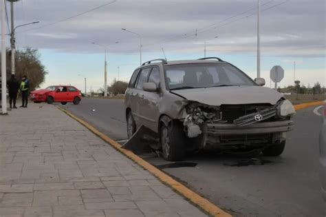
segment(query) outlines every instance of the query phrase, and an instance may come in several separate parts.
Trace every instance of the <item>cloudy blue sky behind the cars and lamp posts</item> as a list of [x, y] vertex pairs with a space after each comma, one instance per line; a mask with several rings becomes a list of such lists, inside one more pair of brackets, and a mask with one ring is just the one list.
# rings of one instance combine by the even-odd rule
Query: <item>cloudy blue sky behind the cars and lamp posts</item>
[[[325, 0], [313, 2], [261, 0], [261, 75], [267, 86], [273, 65], [285, 70], [280, 85], [292, 84], [293, 61], [296, 79], [326, 85], [326, 6]], [[41, 52], [49, 72], [41, 87], [83, 88], [78, 74], [87, 77], [87, 91], [102, 87], [104, 49], [92, 42], [107, 45], [108, 83], [118, 79], [118, 66], [120, 80], [127, 81], [139, 65], [140, 41], [121, 28], [142, 36], [143, 61], [162, 58], [162, 48], [168, 60], [197, 59], [204, 56], [206, 41], [207, 56], [256, 77], [257, 0], [21, 0], [14, 5], [16, 25], [40, 21], [17, 30], [17, 47]]]

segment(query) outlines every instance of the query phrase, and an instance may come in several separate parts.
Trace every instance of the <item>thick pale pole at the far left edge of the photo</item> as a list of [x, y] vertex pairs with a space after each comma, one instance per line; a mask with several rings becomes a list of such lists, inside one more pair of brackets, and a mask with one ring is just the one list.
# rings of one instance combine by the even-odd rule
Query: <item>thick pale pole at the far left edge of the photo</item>
[[1, 106], [2, 114], [7, 114], [6, 0], [1, 0], [1, 6]]

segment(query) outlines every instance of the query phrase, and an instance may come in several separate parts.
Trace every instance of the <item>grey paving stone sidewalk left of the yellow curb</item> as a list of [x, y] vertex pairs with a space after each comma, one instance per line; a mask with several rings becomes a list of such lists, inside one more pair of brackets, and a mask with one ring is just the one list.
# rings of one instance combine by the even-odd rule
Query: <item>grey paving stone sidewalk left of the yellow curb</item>
[[206, 216], [54, 105], [0, 116], [0, 217]]

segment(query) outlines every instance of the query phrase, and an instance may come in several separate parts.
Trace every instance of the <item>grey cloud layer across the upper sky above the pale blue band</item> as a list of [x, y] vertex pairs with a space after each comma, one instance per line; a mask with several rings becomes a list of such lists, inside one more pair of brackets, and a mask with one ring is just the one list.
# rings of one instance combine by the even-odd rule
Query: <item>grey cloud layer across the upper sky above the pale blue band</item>
[[[24, 10], [17, 23], [41, 21], [52, 23], [65, 17], [101, 5], [104, 0], [29, 0], [24, 8], [17, 4], [18, 13]], [[281, 0], [262, 1], [263, 9], [281, 3]], [[96, 52], [91, 41], [107, 43], [121, 41], [111, 52], [137, 52], [138, 38], [121, 28], [142, 34], [144, 52], [157, 52], [162, 47], [173, 51], [189, 47], [194, 41], [211, 41], [219, 36], [218, 46], [229, 52], [256, 50], [256, 16], [235, 19], [253, 14], [257, 1], [194, 1], [194, 0], [120, 0], [64, 23], [17, 34], [21, 45], [64, 52]], [[252, 10], [250, 10], [252, 9]], [[245, 14], [241, 12], [249, 10]], [[235, 16], [235, 14], [241, 14]], [[234, 17], [230, 19], [230, 17]], [[228, 19], [228, 20], [226, 20]], [[229, 22], [229, 23], [228, 23]], [[207, 32], [190, 37], [196, 29], [208, 25]], [[35, 25], [37, 27], [37, 25]], [[21, 30], [27, 30], [25, 27]], [[200, 31], [199, 31], [200, 32]], [[180, 37], [186, 34], [184, 37]], [[173, 38], [174, 37], [174, 38]], [[171, 39], [173, 38], [173, 39]], [[170, 40], [169, 40], [170, 39]], [[276, 8], [265, 10], [261, 17], [261, 45], [268, 52], [285, 56], [323, 56], [325, 53], [325, 1], [288, 1]], [[303, 49], [295, 49], [303, 48]], [[214, 49], [214, 47], [210, 48]], [[186, 50], [185, 50], [186, 52]]]

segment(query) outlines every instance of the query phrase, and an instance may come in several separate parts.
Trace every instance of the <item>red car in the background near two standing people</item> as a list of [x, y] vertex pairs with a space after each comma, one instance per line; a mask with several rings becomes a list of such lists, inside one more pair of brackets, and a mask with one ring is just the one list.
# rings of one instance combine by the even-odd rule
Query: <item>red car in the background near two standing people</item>
[[47, 102], [52, 104], [60, 102], [65, 105], [69, 102], [78, 105], [81, 100], [81, 92], [73, 86], [50, 86], [45, 89], [34, 90], [30, 93], [30, 99], [34, 103]]

